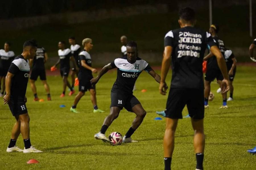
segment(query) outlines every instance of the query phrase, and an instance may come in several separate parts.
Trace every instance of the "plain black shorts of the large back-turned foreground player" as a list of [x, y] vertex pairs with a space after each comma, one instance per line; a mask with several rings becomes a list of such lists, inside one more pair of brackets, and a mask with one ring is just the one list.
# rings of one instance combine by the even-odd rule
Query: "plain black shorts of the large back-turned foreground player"
[[182, 119], [182, 110], [185, 105], [187, 105], [191, 118], [203, 119], [205, 115], [204, 89], [170, 88], [165, 110], [166, 117]]

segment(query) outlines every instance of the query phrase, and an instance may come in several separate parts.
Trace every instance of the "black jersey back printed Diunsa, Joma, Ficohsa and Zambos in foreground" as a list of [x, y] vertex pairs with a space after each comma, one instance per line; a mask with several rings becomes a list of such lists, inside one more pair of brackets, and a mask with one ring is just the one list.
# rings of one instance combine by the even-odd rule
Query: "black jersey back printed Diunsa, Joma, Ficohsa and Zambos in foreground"
[[164, 46], [172, 46], [172, 88], [203, 88], [205, 49], [216, 45], [211, 35], [194, 27], [169, 31]]

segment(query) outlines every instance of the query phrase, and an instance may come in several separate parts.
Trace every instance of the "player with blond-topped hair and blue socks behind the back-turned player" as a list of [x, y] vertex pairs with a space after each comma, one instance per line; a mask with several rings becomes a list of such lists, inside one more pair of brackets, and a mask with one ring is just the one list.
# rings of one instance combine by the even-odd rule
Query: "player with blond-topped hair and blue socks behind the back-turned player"
[[[218, 46], [220, 52], [222, 53], [222, 56], [224, 58], [225, 56], [225, 44], [224, 42], [218, 37], [218, 32], [219, 32], [219, 27], [218, 25], [212, 24], [210, 25], [209, 28], [209, 33], [211, 34], [212, 38], [216, 42], [216, 45]], [[218, 67], [217, 59], [216, 56], [210, 52], [207, 56], [204, 57], [204, 60], [207, 60], [207, 71], [205, 73], [205, 90], [204, 90], [204, 95], [205, 95], [205, 108], [209, 108], [208, 105], [208, 97], [210, 94], [211, 90], [211, 82], [216, 78], [218, 84], [222, 84], [221, 81], [223, 80], [223, 76], [221, 73], [221, 70]], [[227, 109], [227, 93], [222, 93], [222, 106], [220, 109]]]

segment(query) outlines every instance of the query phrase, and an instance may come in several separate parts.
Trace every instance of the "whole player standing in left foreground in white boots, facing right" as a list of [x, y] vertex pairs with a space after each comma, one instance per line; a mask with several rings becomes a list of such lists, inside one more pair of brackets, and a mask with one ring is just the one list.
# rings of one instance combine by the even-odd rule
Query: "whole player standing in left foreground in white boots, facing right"
[[[22, 54], [14, 58], [6, 76], [6, 95], [3, 97], [3, 100], [4, 104], [8, 103], [16, 119], [11, 133], [11, 140], [6, 150], [7, 152], [42, 152], [30, 143], [30, 118], [28, 116], [25, 97], [30, 71], [29, 59], [36, 55], [36, 46], [34, 41], [26, 41], [23, 45]], [[20, 133], [25, 145], [24, 150], [16, 146], [16, 141]]]

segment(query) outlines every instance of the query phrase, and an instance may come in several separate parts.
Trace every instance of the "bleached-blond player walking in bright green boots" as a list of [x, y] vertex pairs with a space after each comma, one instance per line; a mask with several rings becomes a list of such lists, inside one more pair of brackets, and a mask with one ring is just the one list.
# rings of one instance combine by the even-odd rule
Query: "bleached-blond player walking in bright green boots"
[[91, 101], [93, 105], [93, 112], [104, 112], [100, 110], [97, 106], [97, 99], [96, 99], [96, 88], [95, 84], [91, 84], [90, 80], [93, 78], [92, 73], [97, 73], [97, 70], [92, 68], [92, 60], [91, 56], [89, 54], [90, 50], [92, 50], [93, 44], [92, 39], [86, 38], [83, 39], [82, 45], [84, 46], [84, 49], [79, 53], [79, 66], [80, 70], [78, 73], [78, 79], [79, 79], [79, 93], [75, 97], [75, 101], [73, 106], [70, 108], [71, 112], [78, 113], [77, 111], [77, 104], [79, 100], [82, 98], [84, 93], [89, 90], [91, 94]]

